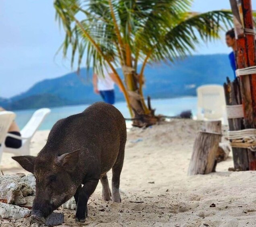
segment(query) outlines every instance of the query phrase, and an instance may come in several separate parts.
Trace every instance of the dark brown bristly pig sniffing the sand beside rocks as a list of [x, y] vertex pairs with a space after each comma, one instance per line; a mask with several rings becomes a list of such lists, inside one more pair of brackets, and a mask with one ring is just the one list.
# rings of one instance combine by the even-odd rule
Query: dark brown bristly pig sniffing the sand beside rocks
[[[37, 157], [12, 157], [35, 175], [31, 220], [44, 223], [74, 196], [76, 221], [85, 222], [87, 202], [99, 180], [103, 200], [121, 202], [119, 184], [125, 143], [126, 123], [120, 111], [97, 102], [82, 113], [57, 121]], [[112, 195], [107, 180], [111, 168]]]

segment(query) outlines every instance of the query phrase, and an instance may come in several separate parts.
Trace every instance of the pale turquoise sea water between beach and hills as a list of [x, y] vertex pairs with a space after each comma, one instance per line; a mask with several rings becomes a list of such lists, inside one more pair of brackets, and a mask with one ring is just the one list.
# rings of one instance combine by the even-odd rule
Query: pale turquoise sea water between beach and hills
[[[152, 108], [156, 108], [156, 114], [175, 116], [184, 110], [192, 110], [192, 113], [195, 116], [197, 98], [183, 97], [183, 98], [153, 99], [151, 101], [151, 104], [152, 104]], [[62, 106], [62, 107], [51, 108], [52, 112], [43, 121], [39, 130], [51, 129], [52, 126], [59, 119], [82, 112], [88, 106], [89, 105], [79, 105], [79, 106]], [[124, 117], [127, 117], [127, 118], [130, 117], [125, 102], [117, 102], [115, 106], [122, 112]], [[15, 111], [17, 115], [16, 121], [21, 129], [29, 121], [34, 111], [35, 110]]]

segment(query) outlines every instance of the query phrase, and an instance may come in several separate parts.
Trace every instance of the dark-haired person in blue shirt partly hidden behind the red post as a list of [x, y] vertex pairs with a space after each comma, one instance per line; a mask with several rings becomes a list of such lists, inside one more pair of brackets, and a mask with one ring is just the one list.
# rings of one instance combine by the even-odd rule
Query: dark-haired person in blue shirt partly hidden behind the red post
[[235, 64], [235, 51], [236, 51], [236, 41], [235, 41], [235, 31], [234, 29], [231, 29], [227, 31], [226, 33], [226, 43], [228, 47], [231, 47], [233, 51], [229, 53], [229, 61], [231, 68], [234, 72], [234, 78], [236, 78], [235, 70], [236, 70], [236, 64]]

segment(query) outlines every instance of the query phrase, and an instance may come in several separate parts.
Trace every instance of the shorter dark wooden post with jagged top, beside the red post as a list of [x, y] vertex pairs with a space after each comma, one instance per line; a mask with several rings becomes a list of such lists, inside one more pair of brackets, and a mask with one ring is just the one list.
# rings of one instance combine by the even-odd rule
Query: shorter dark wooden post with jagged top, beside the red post
[[[240, 105], [242, 104], [239, 80], [236, 78], [234, 82], [230, 82], [227, 78], [227, 83], [224, 84], [224, 92], [226, 98], [226, 105]], [[244, 129], [244, 119], [235, 118], [228, 119], [229, 131], [237, 131]], [[232, 147], [234, 169], [238, 171], [249, 170], [248, 151], [244, 148]]]

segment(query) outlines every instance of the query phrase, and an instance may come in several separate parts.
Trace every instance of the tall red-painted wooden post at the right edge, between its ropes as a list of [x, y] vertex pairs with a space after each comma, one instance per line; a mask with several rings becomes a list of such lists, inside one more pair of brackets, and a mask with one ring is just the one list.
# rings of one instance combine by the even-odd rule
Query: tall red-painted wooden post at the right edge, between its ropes
[[[254, 66], [256, 65], [255, 35], [246, 31], [254, 30], [251, 0], [238, 0], [238, 5], [237, 0], [230, 0], [230, 3], [235, 22], [237, 67], [243, 69]], [[256, 75], [240, 76], [240, 81], [245, 128], [256, 128]], [[256, 170], [256, 152], [249, 150], [247, 152], [249, 170]]]

